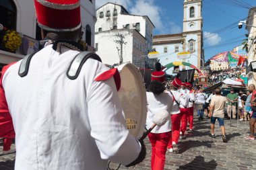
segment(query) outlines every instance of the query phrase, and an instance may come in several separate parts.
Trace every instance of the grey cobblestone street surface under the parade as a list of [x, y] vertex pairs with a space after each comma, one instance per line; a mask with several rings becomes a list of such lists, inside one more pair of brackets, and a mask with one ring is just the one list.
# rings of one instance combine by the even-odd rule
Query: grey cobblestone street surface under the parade
[[[256, 140], [245, 140], [248, 135], [248, 122], [225, 120], [227, 143], [222, 142], [218, 122], [216, 122], [216, 138], [210, 137], [210, 119], [197, 120], [194, 118], [194, 131], [187, 134], [187, 138], [179, 141], [179, 153], [166, 153], [164, 169], [256, 169]], [[246, 128], [242, 128], [246, 127]], [[146, 138], [146, 159], [135, 167], [119, 169], [150, 169], [151, 145]], [[1, 144], [0, 150], [3, 146]], [[14, 169], [15, 154], [0, 155], [0, 170]], [[117, 167], [110, 164], [110, 167]]]

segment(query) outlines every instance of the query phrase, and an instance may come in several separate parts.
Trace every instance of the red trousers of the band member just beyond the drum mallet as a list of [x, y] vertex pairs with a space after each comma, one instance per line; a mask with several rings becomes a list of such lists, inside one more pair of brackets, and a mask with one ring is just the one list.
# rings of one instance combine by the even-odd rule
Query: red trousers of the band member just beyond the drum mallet
[[151, 169], [163, 170], [165, 163], [165, 153], [167, 151], [167, 144], [169, 142], [172, 132], [165, 132], [160, 134], [150, 133], [148, 138], [152, 144]]

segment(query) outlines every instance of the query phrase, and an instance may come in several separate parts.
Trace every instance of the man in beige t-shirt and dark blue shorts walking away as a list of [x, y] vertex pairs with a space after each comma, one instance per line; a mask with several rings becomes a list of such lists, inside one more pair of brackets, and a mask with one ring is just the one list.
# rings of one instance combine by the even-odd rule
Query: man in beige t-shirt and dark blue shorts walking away
[[214, 134], [214, 125], [216, 120], [218, 120], [220, 124], [220, 128], [222, 130], [222, 140], [223, 142], [227, 142], [225, 136], [225, 126], [224, 126], [224, 107], [225, 102], [227, 101], [226, 97], [221, 95], [221, 90], [217, 88], [215, 90], [216, 96], [212, 97], [212, 101], [210, 103], [210, 112], [209, 116], [211, 117], [211, 131], [212, 131], [212, 138], [216, 138]]

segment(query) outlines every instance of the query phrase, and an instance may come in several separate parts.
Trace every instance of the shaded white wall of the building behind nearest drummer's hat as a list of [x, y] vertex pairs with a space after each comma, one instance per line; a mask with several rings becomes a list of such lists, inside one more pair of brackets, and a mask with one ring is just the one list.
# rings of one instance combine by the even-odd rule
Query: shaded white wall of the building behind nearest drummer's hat
[[[36, 12], [34, 9], [34, 1], [13, 0], [13, 3], [15, 4], [15, 7], [17, 9], [16, 31], [20, 32], [20, 34], [36, 39]], [[95, 30], [94, 26], [96, 23], [95, 0], [81, 1], [81, 18], [82, 18], [82, 31], [86, 32], [85, 29], [87, 24], [91, 28], [91, 35], [92, 35], [91, 44], [93, 46], [94, 30]], [[86, 34], [84, 34], [83, 40], [86, 40], [85, 36]], [[2, 64], [9, 64], [10, 62], [18, 61], [23, 57], [24, 57], [23, 55], [0, 50], [0, 63]]]

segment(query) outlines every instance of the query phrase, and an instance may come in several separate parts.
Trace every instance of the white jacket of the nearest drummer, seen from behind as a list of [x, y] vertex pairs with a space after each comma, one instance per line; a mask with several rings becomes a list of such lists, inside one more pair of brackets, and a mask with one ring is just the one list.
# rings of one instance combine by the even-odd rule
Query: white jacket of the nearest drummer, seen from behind
[[108, 160], [128, 165], [141, 150], [131, 136], [115, 81], [94, 79], [107, 70], [88, 59], [75, 80], [66, 73], [79, 52], [51, 45], [37, 52], [26, 77], [20, 62], [3, 77], [15, 129], [15, 169], [105, 170]]

